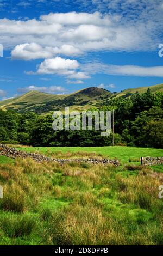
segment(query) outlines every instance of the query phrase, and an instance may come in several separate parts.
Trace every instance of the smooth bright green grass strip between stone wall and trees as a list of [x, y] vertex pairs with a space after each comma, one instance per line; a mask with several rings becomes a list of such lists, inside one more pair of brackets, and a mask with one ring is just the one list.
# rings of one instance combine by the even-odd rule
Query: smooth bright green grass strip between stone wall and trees
[[105, 157], [114, 158], [116, 157], [118, 160], [121, 160], [122, 163], [127, 163], [129, 158], [136, 157], [145, 157], [145, 156], [163, 156], [163, 149], [153, 149], [153, 148], [137, 148], [137, 147], [39, 147], [39, 148], [18, 148], [20, 150], [26, 150], [27, 152], [39, 152], [42, 154], [46, 154], [46, 152], [55, 153], [58, 151], [62, 151], [62, 153], [70, 152], [95, 152], [97, 154], [102, 154]]

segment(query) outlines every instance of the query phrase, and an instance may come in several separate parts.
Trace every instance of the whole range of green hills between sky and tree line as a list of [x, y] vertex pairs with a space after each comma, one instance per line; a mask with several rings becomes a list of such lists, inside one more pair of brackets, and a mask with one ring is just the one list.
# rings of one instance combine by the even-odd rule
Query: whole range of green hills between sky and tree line
[[117, 94], [97, 87], [89, 87], [67, 95], [55, 95], [30, 91], [14, 99], [1, 101], [0, 109], [13, 109], [17, 113], [34, 111], [37, 114], [43, 114], [48, 113], [49, 111], [62, 111], [64, 107], [69, 106], [70, 110], [83, 111], [92, 106], [99, 107], [112, 99], [112, 97], [129, 97], [131, 94], [136, 92], [146, 92], [148, 88], [151, 88], [153, 93], [157, 91], [163, 92], [163, 84], [126, 89]]

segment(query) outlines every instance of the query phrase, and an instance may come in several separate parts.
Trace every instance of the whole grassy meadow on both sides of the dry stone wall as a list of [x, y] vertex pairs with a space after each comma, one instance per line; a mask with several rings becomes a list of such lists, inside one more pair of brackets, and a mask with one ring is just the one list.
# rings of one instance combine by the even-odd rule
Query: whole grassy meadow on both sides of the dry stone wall
[[161, 149], [32, 148], [52, 157], [117, 157], [119, 167], [0, 157], [1, 245], [162, 245]]

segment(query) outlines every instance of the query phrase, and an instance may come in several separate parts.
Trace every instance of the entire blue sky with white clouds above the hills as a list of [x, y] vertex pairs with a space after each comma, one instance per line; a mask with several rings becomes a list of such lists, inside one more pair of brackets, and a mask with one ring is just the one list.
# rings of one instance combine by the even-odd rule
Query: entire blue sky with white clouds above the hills
[[1, 0], [0, 11], [1, 100], [163, 82], [162, 0]]

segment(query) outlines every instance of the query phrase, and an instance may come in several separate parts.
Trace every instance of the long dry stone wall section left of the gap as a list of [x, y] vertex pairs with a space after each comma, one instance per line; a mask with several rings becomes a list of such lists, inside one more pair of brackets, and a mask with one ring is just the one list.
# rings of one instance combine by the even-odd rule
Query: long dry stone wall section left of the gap
[[70, 162], [85, 162], [85, 163], [93, 163], [93, 164], [113, 164], [115, 166], [119, 166], [120, 163], [118, 160], [114, 159], [83, 159], [83, 158], [76, 158], [76, 159], [54, 159], [52, 157], [46, 157], [40, 154], [35, 153], [27, 153], [25, 151], [20, 151], [15, 148], [7, 147], [4, 144], [0, 144], [0, 155], [8, 156], [12, 159], [16, 157], [27, 158], [30, 157], [36, 162], [58, 162], [60, 164], [70, 163]]

